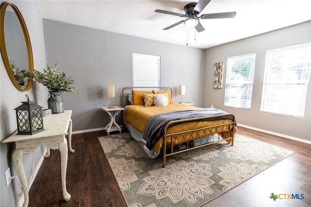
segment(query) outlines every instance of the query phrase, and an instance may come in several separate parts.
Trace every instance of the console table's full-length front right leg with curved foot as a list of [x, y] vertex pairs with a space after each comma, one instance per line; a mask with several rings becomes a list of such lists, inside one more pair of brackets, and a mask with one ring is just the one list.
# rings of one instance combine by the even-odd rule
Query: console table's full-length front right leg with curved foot
[[68, 162], [68, 146], [67, 139], [64, 136], [64, 142], [59, 143], [60, 159], [61, 159], [61, 173], [62, 173], [62, 189], [63, 197], [65, 201], [69, 201], [71, 195], [66, 189], [66, 173], [67, 173], [67, 162]]

